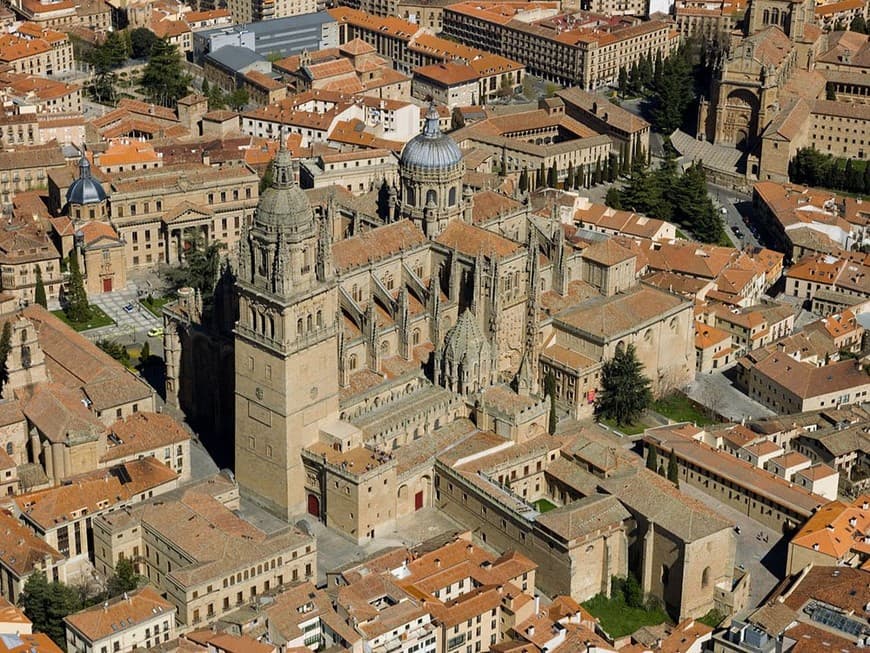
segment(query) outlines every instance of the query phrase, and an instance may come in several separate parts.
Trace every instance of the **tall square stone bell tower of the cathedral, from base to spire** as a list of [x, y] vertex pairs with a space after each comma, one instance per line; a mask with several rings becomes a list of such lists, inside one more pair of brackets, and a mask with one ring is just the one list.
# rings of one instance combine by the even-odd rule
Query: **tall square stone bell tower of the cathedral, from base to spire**
[[302, 448], [338, 413], [332, 243], [295, 167], [282, 139], [272, 185], [239, 242], [236, 284], [236, 479], [284, 517], [304, 510]]

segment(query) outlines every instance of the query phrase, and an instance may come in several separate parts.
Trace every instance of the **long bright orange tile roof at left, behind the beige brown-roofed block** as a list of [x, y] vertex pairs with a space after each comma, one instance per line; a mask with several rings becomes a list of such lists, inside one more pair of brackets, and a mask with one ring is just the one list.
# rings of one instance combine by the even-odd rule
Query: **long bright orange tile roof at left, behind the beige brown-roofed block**
[[[135, 502], [136, 495], [173, 484], [177, 479], [178, 474], [148, 457], [77, 476], [68, 485], [19, 495], [15, 503], [22, 518], [48, 531], [81, 514]], [[83, 509], [87, 512], [82, 513]]]

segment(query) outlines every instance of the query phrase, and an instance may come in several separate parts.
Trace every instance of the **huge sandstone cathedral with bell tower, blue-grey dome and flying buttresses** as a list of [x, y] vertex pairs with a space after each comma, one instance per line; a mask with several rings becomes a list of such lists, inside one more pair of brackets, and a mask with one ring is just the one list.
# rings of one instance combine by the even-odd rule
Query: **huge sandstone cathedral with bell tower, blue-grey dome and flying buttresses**
[[[589, 416], [602, 361], [628, 343], [655, 387], [691, 378], [691, 302], [637, 285], [634, 254], [611, 241], [569, 242], [557, 204], [467, 185], [434, 107], [382, 216], [349, 218], [334, 195], [314, 210], [297, 168], [282, 145], [232, 293], [234, 470], [275, 514], [374, 537], [433, 505], [432, 455], [455, 425], [545, 435], [547, 373], [560, 409]], [[200, 310], [188, 297], [167, 311], [168, 395], [191, 385], [197, 364], [179, 361]]]

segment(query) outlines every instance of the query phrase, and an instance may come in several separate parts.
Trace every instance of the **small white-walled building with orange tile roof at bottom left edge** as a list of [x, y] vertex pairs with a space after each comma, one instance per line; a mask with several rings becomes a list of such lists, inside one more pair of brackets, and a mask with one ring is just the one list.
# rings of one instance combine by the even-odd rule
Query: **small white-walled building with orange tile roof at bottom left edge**
[[64, 617], [67, 653], [130, 653], [175, 639], [175, 606], [144, 587]]

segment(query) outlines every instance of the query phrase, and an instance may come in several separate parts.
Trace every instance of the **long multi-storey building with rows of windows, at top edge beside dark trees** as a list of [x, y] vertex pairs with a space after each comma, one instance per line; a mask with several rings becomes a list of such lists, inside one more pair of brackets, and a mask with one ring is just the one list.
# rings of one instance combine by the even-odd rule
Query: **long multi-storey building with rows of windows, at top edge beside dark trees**
[[565, 86], [594, 90], [615, 84], [620, 68], [680, 44], [670, 22], [591, 13], [560, 14], [542, 3], [460, 2], [444, 9], [444, 34], [514, 59], [529, 72]]

